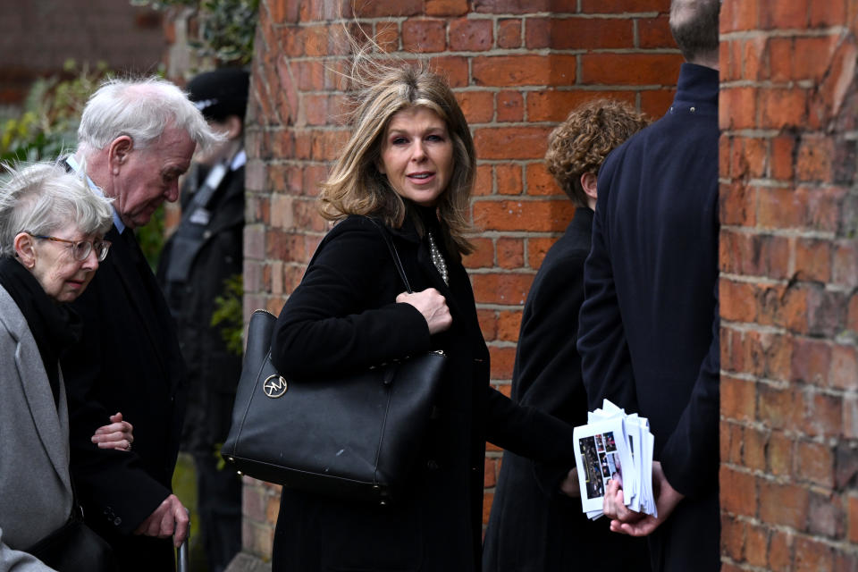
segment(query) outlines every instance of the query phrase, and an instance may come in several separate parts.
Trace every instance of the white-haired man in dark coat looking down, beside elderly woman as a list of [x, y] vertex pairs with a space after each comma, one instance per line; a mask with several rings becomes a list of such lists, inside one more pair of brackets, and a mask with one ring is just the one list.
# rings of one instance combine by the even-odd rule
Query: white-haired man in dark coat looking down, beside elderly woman
[[[133, 230], [164, 200], [198, 147], [219, 139], [181, 89], [164, 80], [110, 80], [89, 98], [78, 149], [66, 164], [113, 198], [110, 254], [72, 306], [80, 343], [63, 358], [71, 422], [71, 472], [89, 526], [122, 570], [174, 568], [173, 543], [188, 516], [172, 494], [185, 402], [184, 365], [164, 297]], [[130, 454], [91, 447], [109, 413], [133, 420]]]

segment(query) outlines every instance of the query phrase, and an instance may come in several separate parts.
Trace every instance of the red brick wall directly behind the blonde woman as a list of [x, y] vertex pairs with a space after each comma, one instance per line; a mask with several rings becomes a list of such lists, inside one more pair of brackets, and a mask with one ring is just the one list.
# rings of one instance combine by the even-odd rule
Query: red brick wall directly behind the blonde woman
[[[337, 4], [342, 4], [340, 7]], [[669, 0], [373, 0], [361, 25], [387, 49], [446, 73], [478, 156], [472, 215], [484, 231], [467, 258], [492, 381], [509, 390], [521, 308], [545, 251], [573, 208], [545, 172], [545, 139], [575, 105], [618, 97], [653, 115], [672, 99], [681, 56]], [[580, 5], [580, 10], [577, 6]], [[348, 136], [338, 117], [349, 2], [264, 0], [248, 120], [245, 313], [277, 313], [328, 228], [316, 183]], [[500, 452], [486, 458], [485, 517]], [[246, 550], [267, 558], [276, 487], [248, 479]]]

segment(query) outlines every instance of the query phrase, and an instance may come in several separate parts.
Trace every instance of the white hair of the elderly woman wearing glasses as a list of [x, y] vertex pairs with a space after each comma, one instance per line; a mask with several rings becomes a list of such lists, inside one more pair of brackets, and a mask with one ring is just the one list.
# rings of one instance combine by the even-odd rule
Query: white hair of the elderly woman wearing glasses
[[110, 203], [85, 181], [60, 164], [0, 165], [8, 176], [0, 181], [0, 256], [12, 257], [19, 232], [51, 234], [72, 223], [84, 234], [110, 230]]

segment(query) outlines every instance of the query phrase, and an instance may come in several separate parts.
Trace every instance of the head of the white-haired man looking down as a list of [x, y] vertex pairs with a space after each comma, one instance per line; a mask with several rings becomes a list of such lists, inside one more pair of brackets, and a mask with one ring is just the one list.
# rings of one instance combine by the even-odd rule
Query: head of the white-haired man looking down
[[178, 179], [194, 149], [219, 139], [171, 82], [108, 80], [83, 110], [76, 156], [92, 181], [115, 199], [122, 223], [136, 228], [148, 223], [164, 200], [179, 198]]

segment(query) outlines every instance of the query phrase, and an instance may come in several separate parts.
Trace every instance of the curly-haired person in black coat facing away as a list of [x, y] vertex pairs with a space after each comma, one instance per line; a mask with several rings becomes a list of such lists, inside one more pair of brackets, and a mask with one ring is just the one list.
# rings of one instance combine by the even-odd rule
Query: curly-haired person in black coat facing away
[[[630, 105], [599, 99], [578, 107], [549, 136], [545, 164], [576, 211], [527, 295], [512, 399], [570, 425], [587, 420], [576, 341], [596, 176], [610, 151], [647, 124], [644, 114]], [[564, 476], [559, 467], [504, 452], [485, 534], [483, 569], [535, 572], [587, 568], [589, 563], [601, 569], [648, 570], [646, 544], [611, 534], [604, 522], [591, 522], [581, 510], [577, 486], [563, 490], [566, 494], [558, 492]]]

